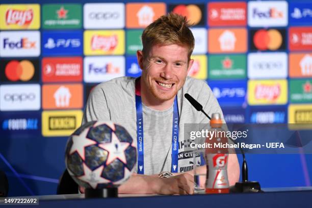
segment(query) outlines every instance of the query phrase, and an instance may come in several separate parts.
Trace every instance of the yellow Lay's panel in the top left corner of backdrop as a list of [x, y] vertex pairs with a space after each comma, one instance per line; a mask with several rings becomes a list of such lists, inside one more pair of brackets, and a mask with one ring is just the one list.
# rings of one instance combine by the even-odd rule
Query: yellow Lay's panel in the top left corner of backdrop
[[0, 5], [0, 30], [38, 30], [39, 4]]

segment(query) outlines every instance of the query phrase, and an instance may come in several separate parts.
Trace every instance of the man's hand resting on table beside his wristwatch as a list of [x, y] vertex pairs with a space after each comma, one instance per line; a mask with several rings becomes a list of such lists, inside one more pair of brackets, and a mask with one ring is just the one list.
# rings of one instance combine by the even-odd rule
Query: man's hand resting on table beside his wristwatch
[[170, 178], [159, 178], [160, 183], [156, 185], [157, 194], [193, 194], [194, 177], [191, 174], [183, 173]]

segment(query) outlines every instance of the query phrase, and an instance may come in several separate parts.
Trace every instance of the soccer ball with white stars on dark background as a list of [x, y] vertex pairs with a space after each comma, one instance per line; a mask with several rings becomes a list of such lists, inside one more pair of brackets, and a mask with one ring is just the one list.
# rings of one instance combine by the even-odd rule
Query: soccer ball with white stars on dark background
[[118, 187], [134, 171], [137, 148], [126, 129], [113, 122], [91, 121], [68, 139], [66, 168], [82, 187]]

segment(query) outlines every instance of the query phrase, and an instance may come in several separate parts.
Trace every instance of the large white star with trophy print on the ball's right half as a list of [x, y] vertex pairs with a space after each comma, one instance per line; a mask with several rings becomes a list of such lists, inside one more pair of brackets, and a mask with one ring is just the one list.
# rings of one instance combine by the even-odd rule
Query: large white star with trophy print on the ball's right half
[[101, 143], [98, 146], [109, 152], [106, 165], [109, 165], [115, 159], [119, 159], [126, 164], [124, 150], [129, 146], [128, 142], [121, 142], [115, 133], [112, 132], [112, 141], [109, 143]]

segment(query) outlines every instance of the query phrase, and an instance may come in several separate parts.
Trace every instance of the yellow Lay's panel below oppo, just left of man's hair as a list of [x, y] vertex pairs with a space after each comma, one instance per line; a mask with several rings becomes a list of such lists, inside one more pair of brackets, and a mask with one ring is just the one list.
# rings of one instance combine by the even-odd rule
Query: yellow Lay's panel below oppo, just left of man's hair
[[124, 31], [85, 31], [84, 53], [85, 55], [123, 55]]

